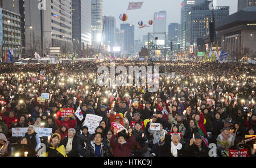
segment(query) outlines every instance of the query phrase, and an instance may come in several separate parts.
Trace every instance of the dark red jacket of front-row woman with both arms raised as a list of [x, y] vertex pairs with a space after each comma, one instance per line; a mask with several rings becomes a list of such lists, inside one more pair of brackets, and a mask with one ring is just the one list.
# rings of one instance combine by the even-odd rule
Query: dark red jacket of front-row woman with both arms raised
[[117, 137], [117, 135], [113, 135], [110, 140], [110, 146], [113, 149], [113, 157], [130, 157], [131, 148], [134, 147], [135, 143], [133, 134], [131, 135], [130, 139], [127, 140], [126, 143], [122, 145], [115, 142], [115, 137]]

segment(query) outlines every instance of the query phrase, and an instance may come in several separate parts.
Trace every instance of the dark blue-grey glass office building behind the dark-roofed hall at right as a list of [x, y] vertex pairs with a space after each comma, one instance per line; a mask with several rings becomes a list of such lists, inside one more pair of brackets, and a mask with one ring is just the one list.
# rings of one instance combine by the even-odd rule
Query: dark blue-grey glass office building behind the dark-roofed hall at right
[[[187, 28], [185, 30], [186, 48], [191, 45], [196, 46], [197, 38], [203, 37], [209, 32], [209, 23], [213, 21], [212, 10], [209, 10], [210, 2], [211, 1], [205, 1], [188, 10], [186, 21]], [[226, 16], [229, 16], [228, 6], [214, 7], [215, 21], [221, 20]]]

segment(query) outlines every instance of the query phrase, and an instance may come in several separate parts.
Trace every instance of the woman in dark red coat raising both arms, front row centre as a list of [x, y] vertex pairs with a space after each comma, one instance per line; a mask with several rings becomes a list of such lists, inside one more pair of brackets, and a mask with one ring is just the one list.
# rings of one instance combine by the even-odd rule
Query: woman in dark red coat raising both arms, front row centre
[[[134, 147], [135, 139], [133, 134], [128, 137], [123, 132], [117, 134], [117, 130], [114, 128], [114, 136], [110, 140], [110, 146], [113, 149], [113, 157], [130, 157], [131, 149]], [[117, 138], [117, 140], [115, 140]]]

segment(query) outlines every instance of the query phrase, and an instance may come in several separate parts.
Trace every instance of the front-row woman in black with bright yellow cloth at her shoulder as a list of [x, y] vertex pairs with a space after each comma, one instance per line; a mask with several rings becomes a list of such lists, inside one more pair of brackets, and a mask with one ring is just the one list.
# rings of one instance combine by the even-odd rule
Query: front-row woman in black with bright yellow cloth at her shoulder
[[64, 145], [60, 144], [60, 135], [53, 133], [49, 147], [46, 149], [46, 157], [67, 157]]

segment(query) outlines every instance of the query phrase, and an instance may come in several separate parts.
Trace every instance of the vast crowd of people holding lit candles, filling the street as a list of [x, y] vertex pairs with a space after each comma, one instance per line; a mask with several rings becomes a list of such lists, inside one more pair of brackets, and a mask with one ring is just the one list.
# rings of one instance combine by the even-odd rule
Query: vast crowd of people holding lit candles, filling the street
[[[115, 61], [115, 66], [147, 66], [146, 61]], [[158, 92], [148, 87], [99, 86], [97, 68], [110, 61], [27, 64], [0, 67], [0, 156], [21, 157], [208, 157], [230, 150], [256, 152], [255, 65], [155, 61]], [[35, 81], [32, 79], [36, 79]], [[38, 101], [42, 93], [49, 100]], [[61, 108], [80, 107], [61, 117]], [[94, 133], [86, 115], [102, 117]], [[125, 127], [119, 131], [116, 122]], [[160, 130], [151, 129], [159, 123]], [[36, 128], [52, 128], [39, 137]], [[12, 136], [12, 128], [27, 128]], [[46, 150], [39, 154], [42, 144]], [[242, 155], [239, 153], [238, 155]]]

